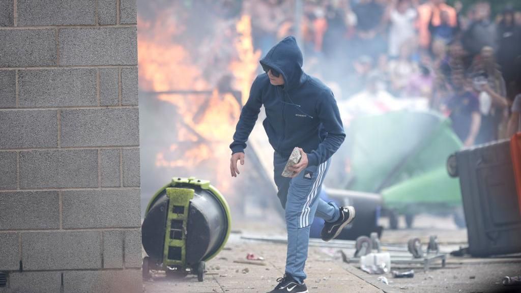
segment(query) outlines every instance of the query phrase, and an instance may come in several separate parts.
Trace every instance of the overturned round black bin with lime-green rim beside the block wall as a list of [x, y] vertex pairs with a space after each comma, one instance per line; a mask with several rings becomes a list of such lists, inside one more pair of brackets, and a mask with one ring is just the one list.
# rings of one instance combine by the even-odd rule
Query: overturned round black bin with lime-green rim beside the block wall
[[143, 278], [150, 277], [150, 270], [164, 270], [167, 275], [197, 274], [202, 282], [205, 262], [225, 246], [230, 228], [228, 203], [209, 181], [172, 178], [145, 211]]

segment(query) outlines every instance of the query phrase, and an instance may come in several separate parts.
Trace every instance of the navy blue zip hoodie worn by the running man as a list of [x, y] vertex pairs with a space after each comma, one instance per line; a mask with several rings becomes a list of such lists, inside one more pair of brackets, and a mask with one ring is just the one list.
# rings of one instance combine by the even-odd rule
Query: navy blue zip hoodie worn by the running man
[[261, 60], [263, 66], [282, 74], [284, 84], [273, 86], [267, 74], [255, 78], [230, 144], [232, 153], [244, 152], [262, 105], [269, 143], [282, 156], [289, 157], [298, 146], [306, 152], [308, 165], [314, 166], [340, 148], [345, 133], [333, 93], [306, 75], [302, 63], [302, 52], [293, 36], [280, 41]]

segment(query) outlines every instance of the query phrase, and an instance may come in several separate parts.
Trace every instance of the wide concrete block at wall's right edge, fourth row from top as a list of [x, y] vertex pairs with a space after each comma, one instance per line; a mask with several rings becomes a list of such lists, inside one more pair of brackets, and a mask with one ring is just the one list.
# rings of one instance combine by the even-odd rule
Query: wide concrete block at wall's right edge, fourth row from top
[[61, 146], [138, 145], [138, 115], [138, 108], [64, 110]]

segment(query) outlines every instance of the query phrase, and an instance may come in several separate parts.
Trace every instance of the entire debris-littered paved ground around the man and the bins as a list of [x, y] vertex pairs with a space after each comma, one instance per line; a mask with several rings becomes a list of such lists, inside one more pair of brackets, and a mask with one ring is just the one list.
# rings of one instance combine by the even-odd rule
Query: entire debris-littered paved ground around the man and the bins
[[[286, 246], [277, 243], [246, 241], [243, 234], [283, 236], [280, 225], [259, 224], [261, 222], [242, 223], [234, 226], [230, 240], [214, 260], [207, 263], [207, 275], [204, 282], [197, 282], [196, 276], [181, 279], [168, 279], [163, 272], [156, 272], [150, 281], [144, 282], [144, 292], [200, 292], [234, 293], [267, 292], [276, 285], [276, 278], [284, 272]], [[382, 224], [386, 225], [385, 220]], [[241, 232], [243, 234], [241, 234]], [[414, 229], [385, 230], [384, 243], [405, 243], [407, 239], [419, 237], [428, 241], [429, 235], [438, 235], [443, 251], [449, 252], [460, 245], [465, 245], [466, 230], [457, 229], [449, 217], [419, 216]], [[244, 261], [246, 254], [252, 252], [265, 258], [255, 264], [237, 263]], [[351, 256], [354, 250], [345, 249]], [[263, 264], [263, 265], [260, 265]], [[309, 292], [521, 292], [521, 287], [507, 291], [501, 280], [505, 275], [516, 275], [521, 271], [521, 258], [448, 258], [445, 268], [436, 265], [432, 270], [423, 272], [420, 266], [401, 265], [392, 270], [415, 270], [414, 278], [398, 279], [386, 274], [389, 285], [377, 280], [378, 275], [369, 275], [357, 267], [357, 264], [342, 262], [338, 249], [310, 247], [306, 264]]]

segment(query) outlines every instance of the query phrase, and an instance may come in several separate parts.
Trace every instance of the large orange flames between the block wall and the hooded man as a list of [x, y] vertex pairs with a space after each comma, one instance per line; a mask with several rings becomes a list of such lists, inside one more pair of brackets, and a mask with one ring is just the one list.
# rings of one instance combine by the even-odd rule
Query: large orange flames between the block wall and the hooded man
[[175, 41], [185, 28], [179, 26], [172, 14], [167, 9], [157, 14], [154, 23], [138, 20], [138, 28], [144, 31], [138, 34], [140, 89], [187, 91], [156, 95], [157, 99], [173, 104], [177, 113], [172, 113], [173, 117], [162, 117], [166, 124], [171, 123], [169, 127], [175, 129], [176, 134], [172, 143], [156, 154], [155, 165], [172, 176], [193, 175], [212, 180], [217, 188], [226, 192], [230, 188], [228, 145], [261, 56], [261, 52], [253, 48], [251, 18], [243, 15], [235, 23], [233, 40], [230, 40], [235, 52], [228, 62], [229, 72], [225, 72], [232, 75], [232, 88], [241, 93], [239, 99], [228, 90], [219, 92], [215, 84], [219, 77], [208, 77], [208, 74], [223, 74], [222, 71], [227, 70], [203, 72], [197, 65], [200, 56]]

